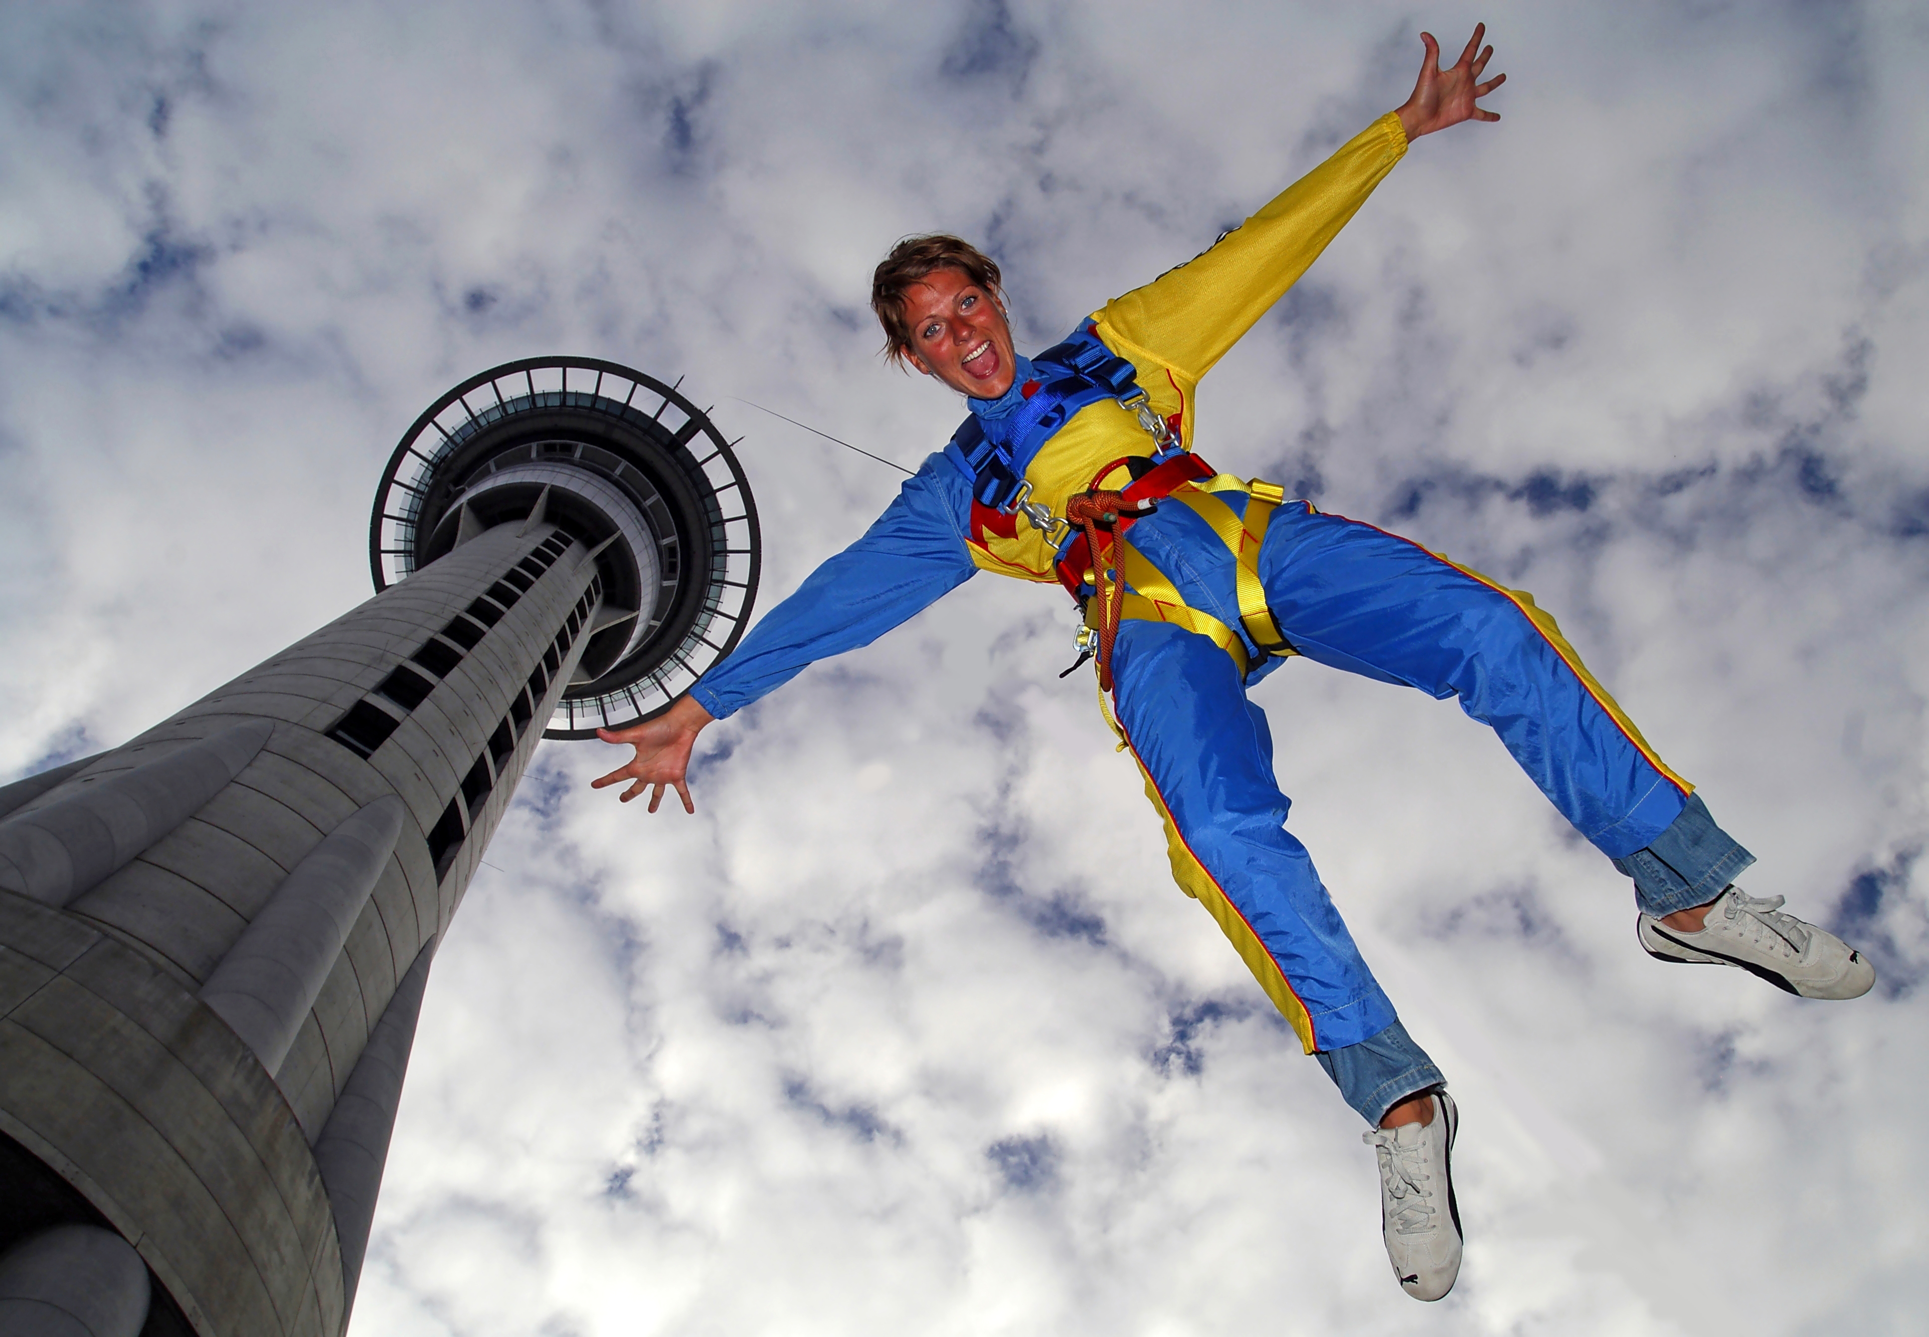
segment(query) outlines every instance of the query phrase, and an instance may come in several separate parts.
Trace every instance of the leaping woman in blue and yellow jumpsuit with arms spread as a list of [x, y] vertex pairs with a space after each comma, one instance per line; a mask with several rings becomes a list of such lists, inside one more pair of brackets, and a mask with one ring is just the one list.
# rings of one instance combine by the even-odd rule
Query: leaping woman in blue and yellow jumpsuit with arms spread
[[1271, 737], [1246, 689], [1285, 656], [1454, 695], [1541, 791], [1634, 878], [1649, 955], [1726, 963], [1809, 997], [1873, 970], [1780, 901], [1740, 893], [1753, 857], [1647, 747], [1522, 592], [1372, 525], [1215, 475], [1188, 451], [1194, 390], [1306, 272], [1408, 145], [1464, 120], [1483, 27], [1426, 60], [1412, 96], [1194, 260], [1109, 301], [1026, 359], [997, 266], [912, 237], [878, 266], [887, 357], [961, 392], [970, 417], [849, 550], [831, 558], [658, 720], [604, 733], [637, 758], [594, 781], [627, 803], [675, 787], [702, 727], [814, 660], [868, 644], [980, 569], [1059, 581], [1086, 608], [1100, 683], [1157, 808], [1179, 886], [1200, 899], [1343, 1098], [1372, 1125], [1400, 1285], [1437, 1300], [1460, 1268], [1445, 1078], [1373, 980], [1306, 849], [1285, 830]]

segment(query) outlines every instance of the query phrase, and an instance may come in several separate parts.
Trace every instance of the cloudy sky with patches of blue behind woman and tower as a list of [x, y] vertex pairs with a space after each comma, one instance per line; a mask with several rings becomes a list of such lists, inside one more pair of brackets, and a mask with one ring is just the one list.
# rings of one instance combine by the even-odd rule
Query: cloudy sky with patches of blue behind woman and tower
[[[712, 729], [698, 814], [550, 743], [430, 978], [355, 1337], [1902, 1333], [1929, 1206], [1929, 17], [1890, 4], [0, 4], [0, 779], [368, 592], [459, 378], [631, 363], [743, 434], [764, 606], [959, 417], [870, 266], [955, 230], [1020, 347], [1190, 257], [1487, 19], [1206, 382], [1200, 453], [1555, 610], [1786, 895], [1800, 1003], [1634, 945], [1453, 704], [1256, 698], [1462, 1107], [1454, 1295], [1165, 872], [1073, 614], [984, 577]], [[1914, 1262], [1912, 1262], [1914, 1260]], [[1917, 1281], [1910, 1283], [1908, 1277]]]

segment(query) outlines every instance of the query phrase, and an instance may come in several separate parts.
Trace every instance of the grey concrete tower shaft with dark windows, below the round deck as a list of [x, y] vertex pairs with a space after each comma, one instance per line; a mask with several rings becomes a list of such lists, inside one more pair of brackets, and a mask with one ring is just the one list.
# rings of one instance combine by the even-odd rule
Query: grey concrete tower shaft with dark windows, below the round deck
[[0, 1132], [191, 1331], [345, 1327], [422, 976], [602, 587], [565, 527], [496, 523], [0, 789]]

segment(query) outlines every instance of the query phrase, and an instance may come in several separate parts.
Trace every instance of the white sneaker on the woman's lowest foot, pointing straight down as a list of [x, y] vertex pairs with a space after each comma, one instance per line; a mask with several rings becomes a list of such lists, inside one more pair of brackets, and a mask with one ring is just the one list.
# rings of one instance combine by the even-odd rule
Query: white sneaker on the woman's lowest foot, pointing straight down
[[1379, 1231], [1400, 1289], [1437, 1300], [1460, 1275], [1460, 1204], [1453, 1196], [1453, 1136], [1460, 1111], [1433, 1094], [1433, 1123], [1402, 1123], [1360, 1136], [1379, 1158]]

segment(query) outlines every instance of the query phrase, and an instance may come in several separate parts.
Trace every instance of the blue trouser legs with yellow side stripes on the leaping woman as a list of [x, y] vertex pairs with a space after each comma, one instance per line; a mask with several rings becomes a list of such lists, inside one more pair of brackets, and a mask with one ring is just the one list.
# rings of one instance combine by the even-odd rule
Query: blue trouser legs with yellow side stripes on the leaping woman
[[[1192, 573], [1213, 567], [1211, 552], [1202, 544], [1190, 559], [1182, 534], [1173, 542], [1167, 531], [1159, 558]], [[1709, 901], [1753, 862], [1526, 594], [1306, 504], [1273, 513], [1258, 571], [1281, 633], [1306, 658], [1458, 696], [1634, 878], [1649, 914]], [[1346, 1104], [1377, 1123], [1400, 1098], [1443, 1084], [1395, 1021], [1304, 847], [1283, 830], [1271, 737], [1231, 660], [1177, 627], [1127, 623], [1113, 671], [1121, 723], [1167, 816], [1175, 876], [1208, 901]]]

